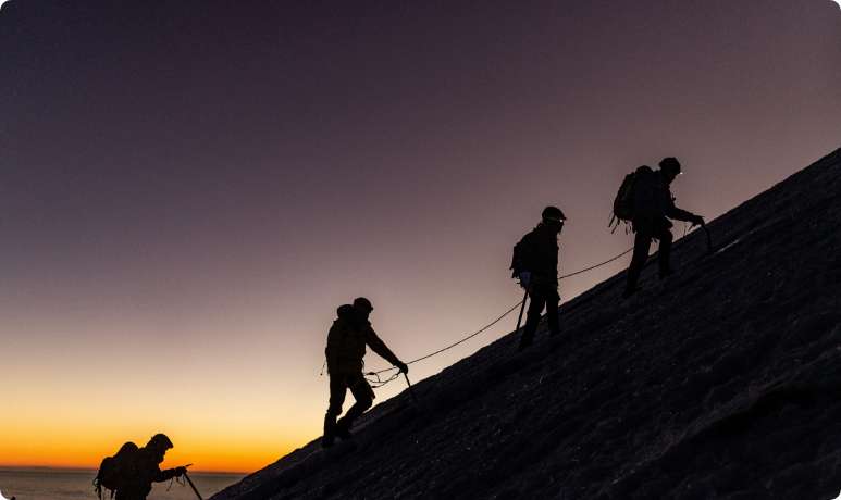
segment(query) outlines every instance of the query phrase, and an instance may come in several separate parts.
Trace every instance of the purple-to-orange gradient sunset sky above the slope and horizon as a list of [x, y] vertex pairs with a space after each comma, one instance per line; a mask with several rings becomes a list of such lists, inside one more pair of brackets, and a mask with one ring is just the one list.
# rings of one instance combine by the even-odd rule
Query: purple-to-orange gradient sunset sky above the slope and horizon
[[338, 305], [368, 297], [410, 361], [521, 299], [543, 207], [567, 273], [632, 245], [607, 223], [641, 164], [681, 160], [712, 220], [839, 147], [829, 0], [11, 0], [0, 466], [164, 432], [164, 465], [257, 470], [321, 432]]

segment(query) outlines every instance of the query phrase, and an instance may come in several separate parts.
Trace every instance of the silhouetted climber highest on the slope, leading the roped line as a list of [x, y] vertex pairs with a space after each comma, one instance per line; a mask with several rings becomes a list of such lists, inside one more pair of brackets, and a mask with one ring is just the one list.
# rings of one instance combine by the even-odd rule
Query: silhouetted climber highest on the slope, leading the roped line
[[671, 253], [671, 229], [669, 218], [691, 222], [693, 225], [704, 224], [704, 217], [692, 212], [675, 207], [675, 197], [669, 190], [669, 185], [681, 173], [680, 162], [676, 158], [664, 158], [659, 163], [660, 170], [653, 171], [648, 167], [636, 170], [632, 191], [632, 223], [636, 234], [633, 242], [633, 258], [628, 267], [628, 283], [623, 298], [633, 295], [639, 288], [636, 282], [648, 259], [652, 239], [660, 241], [658, 252], [659, 278], [663, 279], [672, 274], [669, 264]]

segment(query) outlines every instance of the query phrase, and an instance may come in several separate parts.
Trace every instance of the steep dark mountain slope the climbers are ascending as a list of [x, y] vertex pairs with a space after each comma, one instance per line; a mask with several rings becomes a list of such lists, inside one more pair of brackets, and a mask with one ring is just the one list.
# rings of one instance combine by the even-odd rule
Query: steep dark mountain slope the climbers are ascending
[[[714, 196], [714, 193], [710, 193]], [[213, 497], [832, 499], [841, 491], [841, 150]], [[309, 415], [321, 418], [321, 415]]]

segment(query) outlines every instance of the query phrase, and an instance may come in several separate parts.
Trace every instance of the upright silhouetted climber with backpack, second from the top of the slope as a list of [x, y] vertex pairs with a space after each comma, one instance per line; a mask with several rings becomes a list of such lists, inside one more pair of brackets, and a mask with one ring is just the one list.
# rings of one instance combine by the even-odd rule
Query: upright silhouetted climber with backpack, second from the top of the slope
[[558, 333], [558, 235], [567, 217], [557, 207], [546, 207], [537, 227], [522, 237], [514, 247], [512, 277], [520, 278], [520, 285], [529, 291], [531, 302], [525, 316], [525, 328], [520, 338], [519, 349], [531, 346], [546, 308], [546, 320], [551, 335]]

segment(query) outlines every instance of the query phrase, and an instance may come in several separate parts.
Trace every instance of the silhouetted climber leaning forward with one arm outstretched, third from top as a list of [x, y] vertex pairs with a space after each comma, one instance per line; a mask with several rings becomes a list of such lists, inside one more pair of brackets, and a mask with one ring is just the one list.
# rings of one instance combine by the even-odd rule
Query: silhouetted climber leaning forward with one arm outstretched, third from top
[[[355, 299], [354, 305], [339, 307], [336, 311], [338, 318], [333, 322], [327, 334], [324, 354], [327, 358], [330, 374], [330, 407], [324, 416], [324, 436], [321, 438], [321, 446], [324, 448], [332, 446], [336, 436], [342, 439], [350, 438], [354, 420], [373, 404], [374, 391], [362, 374], [366, 346], [397, 366], [400, 372], [409, 373], [406, 363], [385, 346], [371, 327], [368, 316], [373, 310], [371, 301], [364, 297]], [[336, 417], [342, 414], [347, 389], [350, 389], [356, 403], [336, 422]]]

